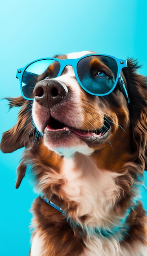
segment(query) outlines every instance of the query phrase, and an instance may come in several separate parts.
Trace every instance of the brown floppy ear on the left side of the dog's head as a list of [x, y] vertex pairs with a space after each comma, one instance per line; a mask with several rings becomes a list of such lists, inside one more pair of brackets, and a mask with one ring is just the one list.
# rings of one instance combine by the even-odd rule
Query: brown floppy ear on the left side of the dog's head
[[37, 130], [32, 120], [32, 101], [27, 101], [22, 97], [7, 98], [9, 107], [21, 107], [18, 113], [17, 124], [2, 135], [0, 149], [3, 153], [11, 153], [18, 148], [29, 147], [36, 140]]

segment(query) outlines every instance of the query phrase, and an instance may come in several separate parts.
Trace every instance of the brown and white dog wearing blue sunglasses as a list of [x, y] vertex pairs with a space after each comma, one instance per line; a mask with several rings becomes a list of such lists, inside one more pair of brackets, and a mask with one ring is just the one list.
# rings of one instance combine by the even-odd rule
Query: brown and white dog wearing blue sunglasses
[[[24, 147], [30, 256], [146, 256], [140, 201], [147, 169], [147, 79], [136, 60], [95, 52], [39, 59], [17, 71], [17, 124], [1, 150]], [[39, 72], [37, 71], [39, 70]]]

